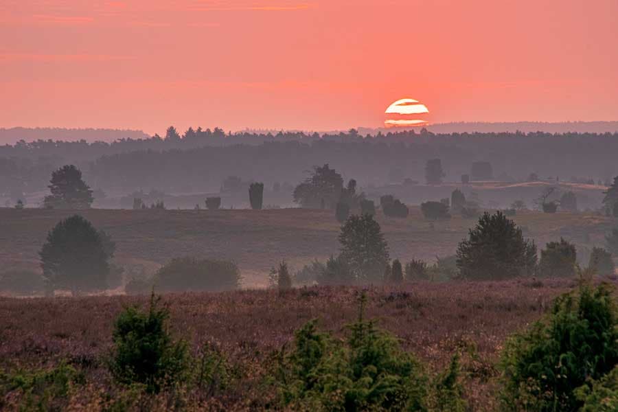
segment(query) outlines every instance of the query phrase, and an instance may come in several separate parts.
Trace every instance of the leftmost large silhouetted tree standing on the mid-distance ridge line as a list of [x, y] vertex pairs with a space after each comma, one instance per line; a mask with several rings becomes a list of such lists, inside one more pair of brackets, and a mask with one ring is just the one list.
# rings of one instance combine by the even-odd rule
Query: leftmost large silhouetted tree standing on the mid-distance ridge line
[[43, 199], [44, 207], [50, 209], [89, 209], [94, 198], [92, 190], [82, 180], [82, 172], [74, 165], [65, 165], [52, 172], [49, 181], [52, 194]]

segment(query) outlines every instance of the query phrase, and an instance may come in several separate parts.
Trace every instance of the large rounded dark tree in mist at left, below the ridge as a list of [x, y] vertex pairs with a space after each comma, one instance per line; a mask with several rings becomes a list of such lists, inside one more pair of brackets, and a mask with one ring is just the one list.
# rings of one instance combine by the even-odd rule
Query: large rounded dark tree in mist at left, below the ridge
[[114, 250], [110, 238], [82, 216], [61, 220], [39, 252], [45, 282], [50, 290], [68, 288], [73, 293], [105, 288]]

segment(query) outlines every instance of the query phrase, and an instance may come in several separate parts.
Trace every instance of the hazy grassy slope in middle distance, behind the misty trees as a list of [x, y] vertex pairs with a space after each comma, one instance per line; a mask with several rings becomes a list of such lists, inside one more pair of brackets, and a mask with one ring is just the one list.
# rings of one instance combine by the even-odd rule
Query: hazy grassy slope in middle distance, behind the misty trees
[[[430, 222], [418, 207], [407, 219], [378, 214], [391, 258], [435, 260], [452, 255], [476, 220], [454, 217]], [[38, 251], [47, 231], [71, 211], [0, 209], [0, 267], [38, 271]], [[95, 227], [111, 234], [116, 260], [127, 271], [153, 273], [174, 257], [193, 255], [225, 258], [238, 263], [244, 286], [266, 286], [268, 269], [285, 259], [299, 269], [314, 258], [325, 259], [339, 249], [339, 223], [332, 211], [314, 209], [235, 210], [112, 210], [80, 211]], [[539, 246], [561, 236], [578, 247], [586, 262], [593, 245], [603, 245], [615, 225], [593, 212], [540, 214], [518, 212], [513, 217], [524, 235]], [[586, 262], [587, 263], [587, 262]]]

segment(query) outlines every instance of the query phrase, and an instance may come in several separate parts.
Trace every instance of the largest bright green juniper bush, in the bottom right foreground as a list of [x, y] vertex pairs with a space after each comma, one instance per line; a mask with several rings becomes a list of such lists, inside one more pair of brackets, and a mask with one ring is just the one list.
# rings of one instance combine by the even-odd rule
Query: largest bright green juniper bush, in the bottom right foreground
[[[577, 411], [575, 389], [618, 363], [613, 291], [584, 284], [562, 295], [544, 322], [507, 341], [502, 355], [503, 410]], [[581, 393], [581, 391], [580, 391]]]

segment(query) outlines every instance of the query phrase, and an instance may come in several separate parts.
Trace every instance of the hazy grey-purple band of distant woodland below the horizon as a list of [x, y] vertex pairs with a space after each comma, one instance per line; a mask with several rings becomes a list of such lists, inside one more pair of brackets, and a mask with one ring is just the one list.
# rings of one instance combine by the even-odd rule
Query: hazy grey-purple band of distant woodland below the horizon
[[97, 141], [33, 140], [0, 146], [0, 195], [47, 190], [52, 170], [75, 164], [93, 190], [130, 194], [218, 192], [229, 176], [266, 187], [295, 185], [314, 165], [330, 164], [358, 184], [424, 183], [429, 159], [444, 181], [459, 182], [472, 163], [490, 162], [493, 179], [605, 184], [618, 173], [618, 133], [444, 133], [428, 130], [361, 135], [225, 133], [168, 128], [165, 136]]

